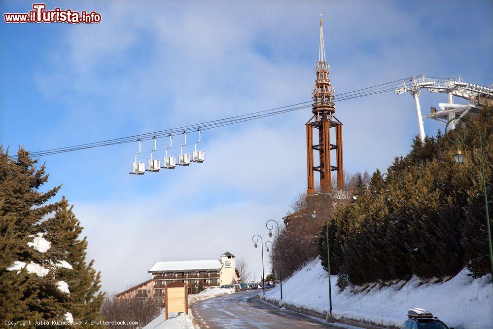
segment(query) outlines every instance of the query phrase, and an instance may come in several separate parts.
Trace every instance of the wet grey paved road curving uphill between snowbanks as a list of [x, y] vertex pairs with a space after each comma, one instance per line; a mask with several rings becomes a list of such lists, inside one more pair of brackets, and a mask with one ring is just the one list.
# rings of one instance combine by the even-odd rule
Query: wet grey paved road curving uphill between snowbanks
[[[191, 305], [196, 324], [216, 328], [331, 328], [324, 320], [280, 309], [259, 299], [258, 291], [236, 292], [198, 301]], [[250, 299], [250, 300], [248, 300]]]

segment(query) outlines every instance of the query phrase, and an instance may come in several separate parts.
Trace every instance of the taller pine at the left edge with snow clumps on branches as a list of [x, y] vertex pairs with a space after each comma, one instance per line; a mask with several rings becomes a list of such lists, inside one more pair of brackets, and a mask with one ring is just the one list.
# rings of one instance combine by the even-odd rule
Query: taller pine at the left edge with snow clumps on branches
[[[48, 202], [61, 186], [42, 192], [48, 180], [44, 165], [37, 169], [37, 160], [23, 148], [17, 156], [16, 160], [9, 159], [8, 150], [0, 147], [0, 318], [71, 320], [68, 312], [72, 308], [84, 309], [83, 304], [91, 298], [98, 300], [94, 295], [99, 289], [99, 276], [91, 266], [87, 266], [90, 274], [86, 276], [76, 273], [73, 280], [83, 282], [87, 276], [94, 280], [89, 280], [91, 287], [85, 300], [70, 300], [67, 285], [58, 277], [64, 264], [61, 261], [75, 254], [63, 247], [75, 247], [74, 242], [63, 234], [57, 238], [53, 226], [43, 222], [67, 205]], [[79, 246], [79, 253], [85, 246], [85, 242]], [[94, 314], [99, 312], [97, 302], [90, 307]]]

